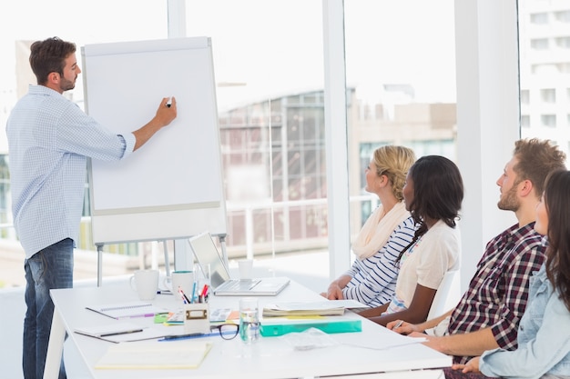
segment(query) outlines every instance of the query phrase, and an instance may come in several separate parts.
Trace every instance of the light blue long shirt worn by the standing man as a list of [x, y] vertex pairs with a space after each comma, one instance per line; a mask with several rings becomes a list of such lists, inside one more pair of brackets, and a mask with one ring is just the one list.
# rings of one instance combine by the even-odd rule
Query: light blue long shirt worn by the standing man
[[26, 258], [65, 238], [77, 241], [87, 157], [117, 161], [133, 134], [117, 135], [44, 85], [30, 85], [6, 125], [15, 231]]

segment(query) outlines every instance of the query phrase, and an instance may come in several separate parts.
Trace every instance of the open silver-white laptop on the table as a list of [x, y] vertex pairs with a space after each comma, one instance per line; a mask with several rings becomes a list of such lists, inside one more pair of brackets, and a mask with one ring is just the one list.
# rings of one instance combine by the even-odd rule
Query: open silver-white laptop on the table
[[209, 232], [194, 235], [188, 242], [200, 267], [209, 264], [210, 284], [218, 296], [275, 296], [290, 283], [287, 277], [231, 279]]

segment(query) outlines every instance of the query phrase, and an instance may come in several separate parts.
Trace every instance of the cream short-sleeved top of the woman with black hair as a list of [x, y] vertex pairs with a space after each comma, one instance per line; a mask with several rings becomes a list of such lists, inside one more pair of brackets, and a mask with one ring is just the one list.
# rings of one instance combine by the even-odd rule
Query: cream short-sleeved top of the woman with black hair
[[459, 226], [451, 228], [438, 221], [402, 256], [396, 297], [407, 308], [412, 303], [416, 284], [437, 290], [447, 271], [459, 269], [460, 256]]

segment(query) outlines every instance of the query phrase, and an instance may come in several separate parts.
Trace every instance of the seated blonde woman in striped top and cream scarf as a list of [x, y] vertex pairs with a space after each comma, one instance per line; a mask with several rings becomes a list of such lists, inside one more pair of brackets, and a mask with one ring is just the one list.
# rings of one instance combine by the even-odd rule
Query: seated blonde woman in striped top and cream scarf
[[396, 286], [402, 249], [415, 231], [403, 204], [402, 187], [415, 161], [413, 151], [402, 146], [382, 146], [366, 168], [366, 191], [377, 194], [381, 205], [371, 214], [354, 240], [356, 259], [345, 274], [322, 295], [329, 299], [354, 299], [372, 307], [390, 302]]

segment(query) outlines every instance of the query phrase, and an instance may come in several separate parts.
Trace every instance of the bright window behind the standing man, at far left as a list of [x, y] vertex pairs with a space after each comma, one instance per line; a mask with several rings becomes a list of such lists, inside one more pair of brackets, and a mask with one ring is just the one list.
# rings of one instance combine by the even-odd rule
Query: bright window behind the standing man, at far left
[[[158, 0], [97, 0], [80, 4], [71, 0], [18, 0], [0, 4], [0, 287], [22, 284], [24, 254], [15, 239], [11, 214], [9, 172], [5, 123], [15, 102], [36, 84], [28, 63], [29, 45], [36, 40], [58, 36], [76, 43], [76, 57], [81, 65], [81, 46], [117, 41], [148, 40], [168, 37], [167, 1]], [[116, 75], [116, 73], [108, 73]], [[121, 78], [117, 76], [117, 86]], [[145, 80], [141, 78], [141, 80]], [[113, 88], [109, 88], [113, 95]], [[83, 82], [66, 96], [83, 106]], [[85, 214], [88, 215], [86, 188]], [[97, 264], [92, 257], [95, 246], [90, 239], [88, 217], [82, 222], [76, 253], [76, 279], [94, 278]], [[114, 262], [107, 262], [107, 274], [122, 274], [149, 264], [153, 244], [117, 244], [107, 251], [120, 253]], [[139, 256], [127, 256], [138, 254]], [[120, 259], [119, 259], [120, 258]], [[147, 262], [145, 262], [147, 261]]]

